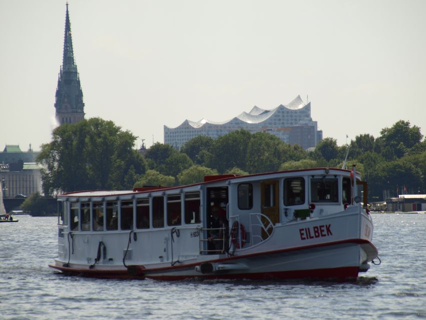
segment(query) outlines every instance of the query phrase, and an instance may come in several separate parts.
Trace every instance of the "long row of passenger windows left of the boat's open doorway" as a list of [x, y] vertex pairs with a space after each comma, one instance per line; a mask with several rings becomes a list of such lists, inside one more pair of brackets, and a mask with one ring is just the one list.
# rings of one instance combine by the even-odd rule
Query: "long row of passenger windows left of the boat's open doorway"
[[[181, 195], [172, 194], [166, 196], [167, 201], [167, 225], [181, 225]], [[133, 219], [133, 206], [136, 204], [135, 221]], [[200, 223], [200, 193], [188, 192], [184, 195], [184, 222], [186, 224]], [[104, 205], [106, 205], [104, 210]], [[59, 223], [67, 223], [66, 202], [59, 205]], [[104, 216], [105, 214], [105, 216]], [[164, 196], [139, 198], [133, 200], [122, 200], [120, 202], [120, 219], [118, 217], [118, 201], [106, 202], [71, 202], [70, 221], [71, 230], [103, 231], [103, 230], [131, 230], [147, 229], [151, 227], [164, 227]], [[118, 225], [120, 223], [120, 225]]]

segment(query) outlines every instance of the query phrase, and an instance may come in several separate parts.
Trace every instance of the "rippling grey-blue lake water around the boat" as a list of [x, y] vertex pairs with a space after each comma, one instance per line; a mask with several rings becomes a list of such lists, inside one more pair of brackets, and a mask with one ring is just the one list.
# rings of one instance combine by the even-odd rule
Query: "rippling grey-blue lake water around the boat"
[[0, 223], [0, 319], [426, 318], [426, 214], [373, 214], [382, 264], [344, 283], [65, 276], [47, 266], [56, 218], [17, 218]]

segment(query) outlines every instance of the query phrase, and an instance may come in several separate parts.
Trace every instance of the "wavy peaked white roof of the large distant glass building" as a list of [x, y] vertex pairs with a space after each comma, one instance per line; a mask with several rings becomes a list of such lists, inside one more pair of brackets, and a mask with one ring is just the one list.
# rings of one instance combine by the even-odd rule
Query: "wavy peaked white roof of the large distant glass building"
[[[182, 124], [180, 124], [177, 127], [181, 127], [181, 126], [185, 126], [185, 125], [189, 125], [193, 128], [200, 128], [202, 127], [204, 124], [206, 123], [210, 123], [210, 124], [226, 124], [228, 122], [231, 121], [243, 121], [246, 123], [261, 123], [265, 120], [267, 120], [268, 118], [270, 118], [273, 114], [275, 114], [277, 112], [277, 110], [279, 109], [289, 109], [289, 110], [298, 110], [301, 109], [303, 107], [305, 107], [306, 104], [303, 102], [302, 98], [300, 97], [300, 95], [298, 95], [295, 99], [293, 99], [293, 101], [291, 101], [290, 103], [288, 103], [287, 105], [282, 105], [280, 104], [279, 106], [277, 106], [276, 108], [272, 109], [272, 110], [266, 110], [266, 109], [262, 109], [258, 106], [254, 106], [248, 113], [247, 112], [242, 112], [239, 115], [237, 115], [236, 117], [230, 119], [230, 120], [226, 120], [223, 122], [215, 122], [215, 121], [210, 121], [208, 119], [201, 119], [197, 122], [195, 121], [191, 121], [191, 120], [185, 120], [182, 122]], [[171, 129], [170, 127], [166, 126], [165, 127]]]

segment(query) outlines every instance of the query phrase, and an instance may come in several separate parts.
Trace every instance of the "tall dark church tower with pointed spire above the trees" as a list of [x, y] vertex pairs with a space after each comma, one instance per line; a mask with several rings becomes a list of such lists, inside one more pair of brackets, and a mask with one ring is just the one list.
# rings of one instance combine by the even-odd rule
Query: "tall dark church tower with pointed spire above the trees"
[[55, 109], [58, 124], [75, 123], [84, 118], [83, 91], [81, 90], [77, 65], [74, 62], [68, 2], [66, 3], [63, 57], [56, 87]]

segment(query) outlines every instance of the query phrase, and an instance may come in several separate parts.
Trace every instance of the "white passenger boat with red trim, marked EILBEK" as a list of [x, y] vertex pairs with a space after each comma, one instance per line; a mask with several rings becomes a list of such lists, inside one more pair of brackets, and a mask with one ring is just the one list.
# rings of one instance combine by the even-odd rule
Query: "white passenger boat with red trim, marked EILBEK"
[[82, 276], [354, 280], [378, 255], [355, 166], [70, 192], [58, 206], [49, 266]]

